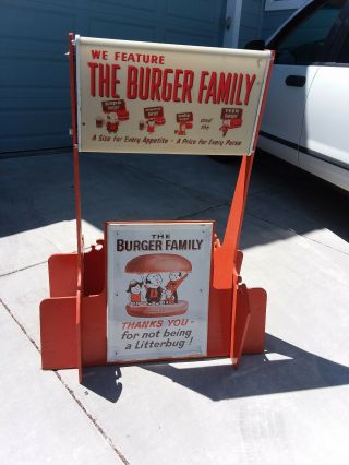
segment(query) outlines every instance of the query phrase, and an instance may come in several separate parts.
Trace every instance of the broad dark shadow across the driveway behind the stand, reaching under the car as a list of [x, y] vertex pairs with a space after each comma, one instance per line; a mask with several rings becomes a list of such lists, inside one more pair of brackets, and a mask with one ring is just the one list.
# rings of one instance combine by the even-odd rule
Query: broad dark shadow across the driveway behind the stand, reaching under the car
[[[75, 218], [71, 154], [1, 160], [0, 237]], [[239, 160], [204, 156], [81, 156], [82, 214], [107, 219], [217, 219], [222, 237]], [[305, 234], [327, 228], [349, 240], [348, 194], [268, 154], [258, 153], [246, 214], [272, 230]], [[335, 206], [335, 207], [334, 207]], [[248, 238], [244, 248], [278, 240]]]

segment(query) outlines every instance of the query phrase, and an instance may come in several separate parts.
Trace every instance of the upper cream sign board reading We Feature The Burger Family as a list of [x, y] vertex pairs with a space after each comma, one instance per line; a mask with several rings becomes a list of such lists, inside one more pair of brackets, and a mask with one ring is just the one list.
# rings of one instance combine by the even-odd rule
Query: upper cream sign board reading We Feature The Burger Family
[[76, 36], [79, 150], [250, 155], [270, 60]]

